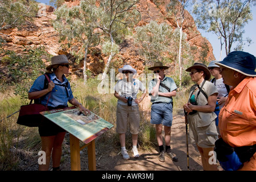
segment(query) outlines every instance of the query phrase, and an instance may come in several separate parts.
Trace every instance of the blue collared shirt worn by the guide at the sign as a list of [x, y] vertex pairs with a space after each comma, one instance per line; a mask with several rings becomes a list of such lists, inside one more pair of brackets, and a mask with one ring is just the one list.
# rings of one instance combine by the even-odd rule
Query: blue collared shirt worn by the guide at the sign
[[[67, 106], [68, 101], [72, 100], [73, 94], [71, 90], [71, 86], [68, 82], [68, 79], [63, 75], [63, 82], [61, 82], [55, 75], [55, 73], [51, 73], [50, 80], [53, 81], [55, 84], [61, 84], [61, 85], [68, 85], [67, 88], [65, 86], [59, 86], [55, 85], [55, 87], [52, 89], [51, 92], [48, 92], [45, 96], [40, 98], [41, 104], [46, 105], [49, 94], [51, 94], [48, 105], [51, 107], [57, 107], [57, 106]], [[39, 76], [34, 81], [34, 84], [31, 86], [29, 92], [36, 92], [44, 89], [44, 79], [46, 77], [44, 75]], [[66, 90], [67, 89], [67, 90]], [[68, 91], [68, 92], [67, 92]]]

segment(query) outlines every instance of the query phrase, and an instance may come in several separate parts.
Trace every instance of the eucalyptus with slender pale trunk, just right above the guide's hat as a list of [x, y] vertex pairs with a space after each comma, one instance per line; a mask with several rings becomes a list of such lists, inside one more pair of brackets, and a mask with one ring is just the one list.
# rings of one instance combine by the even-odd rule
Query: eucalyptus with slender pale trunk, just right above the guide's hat
[[[84, 57], [84, 84], [86, 83], [86, 57], [89, 47], [100, 43], [97, 31], [97, 6], [95, 0], [81, 1], [80, 5], [68, 7], [63, 5], [56, 9], [53, 27], [59, 32], [60, 41], [71, 48], [71, 54], [78, 59]], [[66, 41], [68, 42], [66, 44]], [[79, 47], [79, 44], [81, 48]]]

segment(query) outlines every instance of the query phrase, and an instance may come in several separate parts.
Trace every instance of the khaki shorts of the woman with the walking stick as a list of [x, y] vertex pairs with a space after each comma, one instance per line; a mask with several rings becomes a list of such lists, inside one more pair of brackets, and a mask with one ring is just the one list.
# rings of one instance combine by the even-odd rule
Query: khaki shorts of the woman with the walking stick
[[189, 119], [189, 138], [201, 148], [213, 148], [218, 139], [215, 119], [208, 126], [197, 127], [198, 119], [200, 118], [190, 117]]

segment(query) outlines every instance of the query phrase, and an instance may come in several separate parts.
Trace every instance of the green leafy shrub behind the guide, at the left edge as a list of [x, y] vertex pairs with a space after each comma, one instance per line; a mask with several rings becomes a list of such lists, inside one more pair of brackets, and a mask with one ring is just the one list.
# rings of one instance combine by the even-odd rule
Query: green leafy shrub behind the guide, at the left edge
[[24, 55], [18, 55], [14, 51], [4, 51], [1, 64], [6, 65], [8, 75], [1, 76], [1, 85], [15, 86], [15, 94], [27, 98], [27, 92], [34, 80], [42, 75], [45, 64], [42, 59], [49, 60], [50, 55], [44, 51], [44, 47], [32, 49], [26, 47]]

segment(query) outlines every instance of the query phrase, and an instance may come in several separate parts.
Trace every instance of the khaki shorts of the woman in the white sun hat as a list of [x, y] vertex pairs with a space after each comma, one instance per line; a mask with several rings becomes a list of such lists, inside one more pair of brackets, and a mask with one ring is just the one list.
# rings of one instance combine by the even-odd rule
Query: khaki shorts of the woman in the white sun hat
[[117, 133], [126, 133], [130, 127], [131, 134], [139, 133], [139, 106], [117, 105]]

